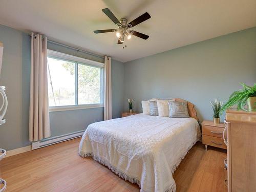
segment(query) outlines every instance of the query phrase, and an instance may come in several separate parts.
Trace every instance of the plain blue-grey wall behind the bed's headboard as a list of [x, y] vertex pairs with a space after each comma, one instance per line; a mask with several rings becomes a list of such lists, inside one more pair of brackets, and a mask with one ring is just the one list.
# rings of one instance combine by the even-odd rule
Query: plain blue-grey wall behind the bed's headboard
[[140, 112], [141, 100], [183, 98], [211, 120], [209, 101], [227, 101], [239, 82], [256, 82], [256, 27], [126, 62], [124, 98]]

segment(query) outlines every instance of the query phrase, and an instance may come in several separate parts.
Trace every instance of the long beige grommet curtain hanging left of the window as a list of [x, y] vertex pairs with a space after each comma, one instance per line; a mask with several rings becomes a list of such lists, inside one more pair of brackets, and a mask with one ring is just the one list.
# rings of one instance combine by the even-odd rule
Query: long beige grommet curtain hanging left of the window
[[31, 72], [29, 106], [29, 140], [38, 141], [50, 137], [47, 37], [31, 34]]

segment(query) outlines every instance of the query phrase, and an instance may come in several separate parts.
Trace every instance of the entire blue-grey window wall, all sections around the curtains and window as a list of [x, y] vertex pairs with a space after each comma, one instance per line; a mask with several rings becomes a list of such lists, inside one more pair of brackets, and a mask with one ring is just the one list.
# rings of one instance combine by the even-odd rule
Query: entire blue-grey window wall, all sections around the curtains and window
[[[4, 43], [0, 85], [6, 86], [7, 122], [0, 126], [0, 147], [12, 150], [29, 142], [30, 36], [0, 25], [0, 41]], [[103, 58], [48, 43], [48, 49], [103, 62]], [[113, 118], [123, 109], [124, 64], [112, 60]], [[103, 120], [103, 108], [50, 112], [51, 137], [84, 130], [93, 122]]]

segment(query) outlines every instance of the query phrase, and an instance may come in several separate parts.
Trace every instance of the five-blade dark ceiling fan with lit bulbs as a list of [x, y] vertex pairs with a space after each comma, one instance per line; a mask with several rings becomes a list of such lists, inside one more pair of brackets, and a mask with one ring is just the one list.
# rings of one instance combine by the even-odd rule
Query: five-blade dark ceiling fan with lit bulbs
[[102, 9], [103, 13], [108, 16], [112, 22], [117, 26], [117, 29], [103, 29], [103, 30], [95, 30], [94, 33], [108, 33], [108, 32], [116, 32], [116, 36], [118, 37], [117, 44], [122, 44], [125, 40], [125, 37], [127, 39], [131, 39], [132, 35], [135, 35], [137, 37], [147, 39], [148, 35], [145, 35], [143, 33], [131, 30], [132, 27], [144, 22], [145, 20], [151, 18], [150, 14], [145, 12], [144, 14], [140, 15], [136, 19], [134, 19], [132, 22], [127, 24], [126, 18], [121, 18], [120, 21], [116, 18], [116, 16], [111, 12], [110, 9], [105, 8]]

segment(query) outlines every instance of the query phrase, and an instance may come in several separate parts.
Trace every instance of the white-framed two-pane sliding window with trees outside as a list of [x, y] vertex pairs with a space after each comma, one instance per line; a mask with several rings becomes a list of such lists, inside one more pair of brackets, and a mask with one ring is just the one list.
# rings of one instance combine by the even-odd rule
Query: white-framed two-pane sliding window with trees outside
[[50, 111], [103, 106], [103, 66], [72, 55], [48, 50]]

